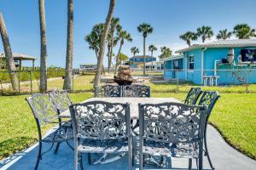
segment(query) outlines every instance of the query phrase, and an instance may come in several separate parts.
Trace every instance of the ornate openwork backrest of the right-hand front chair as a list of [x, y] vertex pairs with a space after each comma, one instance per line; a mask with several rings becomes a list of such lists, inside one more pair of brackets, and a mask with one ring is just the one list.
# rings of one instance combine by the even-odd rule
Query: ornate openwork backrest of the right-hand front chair
[[198, 105], [139, 104], [140, 139], [175, 144], [203, 139], [206, 111]]

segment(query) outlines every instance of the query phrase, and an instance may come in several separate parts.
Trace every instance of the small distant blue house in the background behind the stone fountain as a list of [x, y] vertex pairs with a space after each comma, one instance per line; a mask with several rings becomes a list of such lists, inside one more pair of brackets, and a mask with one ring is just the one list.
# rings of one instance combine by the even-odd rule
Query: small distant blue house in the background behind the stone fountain
[[[143, 68], [143, 63], [144, 63], [143, 55], [136, 55], [134, 57], [131, 57], [129, 60], [130, 60], [131, 68]], [[146, 55], [145, 62], [148, 63], [151, 61], [156, 61], [156, 58]]]

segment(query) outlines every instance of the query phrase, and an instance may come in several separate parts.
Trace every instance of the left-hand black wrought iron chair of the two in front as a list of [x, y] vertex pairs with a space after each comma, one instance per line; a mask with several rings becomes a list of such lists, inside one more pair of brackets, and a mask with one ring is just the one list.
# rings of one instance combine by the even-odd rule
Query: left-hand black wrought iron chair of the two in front
[[[128, 104], [93, 101], [70, 107], [75, 170], [83, 153], [127, 153], [132, 166], [132, 135]], [[90, 156], [90, 155], [89, 155]], [[90, 164], [90, 157], [89, 157]], [[81, 169], [83, 164], [80, 163]]]

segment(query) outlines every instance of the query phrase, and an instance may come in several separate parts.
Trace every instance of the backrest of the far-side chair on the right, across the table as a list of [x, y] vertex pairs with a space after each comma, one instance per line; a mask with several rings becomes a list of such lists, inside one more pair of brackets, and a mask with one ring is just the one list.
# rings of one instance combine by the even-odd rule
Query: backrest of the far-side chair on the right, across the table
[[123, 97], [139, 97], [139, 98], [149, 98], [150, 97], [150, 87], [141, 84], [131, 84], [128, 86], [123, 86]]

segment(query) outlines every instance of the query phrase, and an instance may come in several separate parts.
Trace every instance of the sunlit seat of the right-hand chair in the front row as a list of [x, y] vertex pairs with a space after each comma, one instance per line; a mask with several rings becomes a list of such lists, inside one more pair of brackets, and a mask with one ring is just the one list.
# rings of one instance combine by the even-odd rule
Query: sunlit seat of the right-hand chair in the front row
[[194, 144], [168, 144], [153, 141], [145, 141], [143, 153], [151, 156], [172, 156], [172, 157], [198, 157], [198, 150]]

